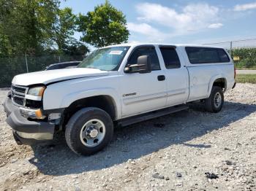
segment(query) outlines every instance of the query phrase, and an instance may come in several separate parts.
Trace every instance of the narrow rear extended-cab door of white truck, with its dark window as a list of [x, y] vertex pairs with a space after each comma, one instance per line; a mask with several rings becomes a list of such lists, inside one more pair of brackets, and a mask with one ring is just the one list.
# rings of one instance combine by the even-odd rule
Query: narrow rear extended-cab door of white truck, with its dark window
[[[182, 104], [189, 95], [189, 78], [187, 69], [181, 64], [176, 47], [160, 46], [165, 77], [167, 81], [167, 106]], [[182, 58], [182, 57], [181, 57]]]

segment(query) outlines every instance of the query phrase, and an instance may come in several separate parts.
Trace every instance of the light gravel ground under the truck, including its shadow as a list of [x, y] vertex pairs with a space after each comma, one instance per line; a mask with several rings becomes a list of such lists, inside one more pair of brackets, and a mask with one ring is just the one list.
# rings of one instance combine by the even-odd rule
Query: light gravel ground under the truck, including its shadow
[[117, 129], [90, 157], [62, 135], [18, 146], [4, 120], [0, 106], [0, 190], [256, 190], [256, 85], [225, 93], [217, 114], [194, 107]]

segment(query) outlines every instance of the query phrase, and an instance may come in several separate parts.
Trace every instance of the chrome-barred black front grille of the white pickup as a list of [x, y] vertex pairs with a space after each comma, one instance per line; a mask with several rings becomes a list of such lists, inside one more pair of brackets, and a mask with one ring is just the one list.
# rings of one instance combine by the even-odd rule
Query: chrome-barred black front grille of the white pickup
[[28, 87], [12, 85], [11, 87], [11, 98], [14, 104], [24, 106], [25, 103], [25, 94]]

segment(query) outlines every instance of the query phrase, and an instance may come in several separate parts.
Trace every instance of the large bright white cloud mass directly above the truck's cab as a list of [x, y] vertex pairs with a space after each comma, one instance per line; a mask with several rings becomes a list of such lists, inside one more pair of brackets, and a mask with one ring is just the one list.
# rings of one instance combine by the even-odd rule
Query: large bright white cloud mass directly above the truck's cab
[[137, 34], [142, 35], [143, 40], [148, 42], [164, 42], [176, 36], [195, 34], [223, 26], [220, 23], [222, 9], [207, 3], [173, 8], [146, 2], [137, 4], [136, 10], [138, 21], [127, 24], [132, 39], [136, 41], [141, 39]]

